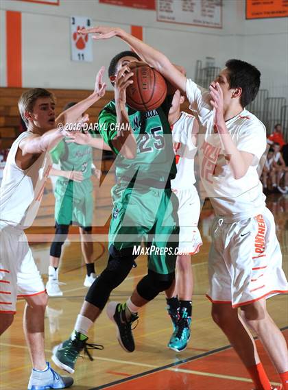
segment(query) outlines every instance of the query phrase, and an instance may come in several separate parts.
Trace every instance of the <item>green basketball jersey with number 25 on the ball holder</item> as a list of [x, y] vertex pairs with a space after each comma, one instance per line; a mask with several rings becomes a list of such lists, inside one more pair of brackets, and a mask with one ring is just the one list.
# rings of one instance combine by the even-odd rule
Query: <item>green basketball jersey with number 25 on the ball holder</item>
[[163, 108], [147, 112], [135, 111], [126, 107], [132, 131], [136, 138], [136, 157], [132, 160], [119, 154], [112, 145], [117, 136], [117, 115], [115, 101], [110, 101], [101, 110], [98, 119], [98, 130], [104, 141], [117, 154], [117, 178], [125, 176], [137, 179], [152, 179], [166, 182], [176, 175], [175, 156], [173, 152], [171, 130]]

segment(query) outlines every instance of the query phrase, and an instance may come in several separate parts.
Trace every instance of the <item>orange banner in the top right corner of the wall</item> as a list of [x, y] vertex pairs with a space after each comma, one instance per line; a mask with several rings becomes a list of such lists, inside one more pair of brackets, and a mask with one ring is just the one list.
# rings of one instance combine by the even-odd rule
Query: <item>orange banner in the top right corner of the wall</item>
[[285, 18], [287, 0], [246, 0], [246, 19]]

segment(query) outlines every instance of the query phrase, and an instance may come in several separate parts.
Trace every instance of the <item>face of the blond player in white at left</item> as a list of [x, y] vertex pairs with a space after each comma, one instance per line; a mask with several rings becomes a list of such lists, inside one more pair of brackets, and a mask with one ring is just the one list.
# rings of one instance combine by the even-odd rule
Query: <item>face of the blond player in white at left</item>
[[32, 112], [29, 112], [29, 121], [42, 130], [51, 130], [55, 127], [55, 103], [51, 97], [38, 97]]

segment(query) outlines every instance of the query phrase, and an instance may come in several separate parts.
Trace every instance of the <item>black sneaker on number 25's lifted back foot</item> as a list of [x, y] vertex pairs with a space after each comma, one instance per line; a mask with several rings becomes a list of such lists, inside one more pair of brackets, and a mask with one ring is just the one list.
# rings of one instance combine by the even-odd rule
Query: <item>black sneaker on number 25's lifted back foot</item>
[[117, 340], [127, 352], [133, 352], [135, 349], [134, 338], [132, 334], [131, 325], [136, 319], [137, 314], [131, 314], [131, 318], [127, 321], [125, 316], [126, 304], [119, 304], [118, 302], [110, 302], [107, 305], [106, 312], [111, 321], [117, 325]]

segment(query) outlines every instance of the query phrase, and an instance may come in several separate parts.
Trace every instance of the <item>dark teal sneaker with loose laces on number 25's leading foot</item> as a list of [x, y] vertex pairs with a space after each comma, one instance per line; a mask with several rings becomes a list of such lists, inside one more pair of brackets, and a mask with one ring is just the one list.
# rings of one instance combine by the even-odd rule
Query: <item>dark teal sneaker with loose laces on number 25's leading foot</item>
[[57, 365], [57, 367], [73, 374], [75, 371], [75, 363], [82, 350], [84, 350], [84, 353], [88, 355], [88, 358], [93, 361], [93, 357], [88, 350], [104, 349], [103, 345], [89, 344], [87, 343], [87, 340], [88, 337], [84, 334], [75, 332], [75, 339], [72, 340], [71, 337], [69, 337], [68, 340], [53, 348], [52, 361]]

